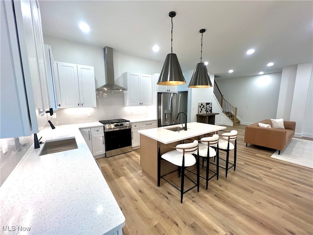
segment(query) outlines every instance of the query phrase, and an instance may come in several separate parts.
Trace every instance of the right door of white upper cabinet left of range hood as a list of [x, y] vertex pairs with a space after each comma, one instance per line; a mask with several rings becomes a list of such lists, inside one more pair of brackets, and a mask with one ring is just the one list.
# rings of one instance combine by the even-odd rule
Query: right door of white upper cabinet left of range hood
[[77, 72], [81, 107], [97, 107], [93, 67], [77, 65]]

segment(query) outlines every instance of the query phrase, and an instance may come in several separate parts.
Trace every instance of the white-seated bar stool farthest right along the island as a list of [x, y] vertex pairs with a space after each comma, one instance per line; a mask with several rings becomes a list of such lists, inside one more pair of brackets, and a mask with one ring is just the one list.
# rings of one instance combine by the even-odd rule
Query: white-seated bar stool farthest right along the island
[[[234, 143], [233, 143], [234, 142]], [[220, 166], [221, 168], [225, 169], [225, 177], [227, 178], [227, 172], [230, 168], [234, 167], [236, 170], [236, 158], [237, 158], [237, 131], [232, 130], [227, 133], [223, 133], [220, 140], [219, 140], [219, 149], [226, 152], [226, 159], [220, 158], [226, 162], [225, 167]], [[229, 162], [229, 152], [234, 149], [234, 162]], [[228, 167], [228, 165], [230, 166]]]

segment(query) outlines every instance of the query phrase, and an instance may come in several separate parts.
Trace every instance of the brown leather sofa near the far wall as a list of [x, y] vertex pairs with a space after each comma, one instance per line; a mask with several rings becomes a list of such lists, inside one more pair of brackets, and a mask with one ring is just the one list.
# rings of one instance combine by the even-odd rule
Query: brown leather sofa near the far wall
[[[272, 126], [270, 119], [265, 119], [259, 122]], [[259, 122], [246, 126], [246, 146], [248, 143], [252, 143], [263, 147], [277, 149], [279, 150], [278, 154], [280, 154], [280, 151], [288, 146], [294, 135], [295, 122], [284, 120], [285, 129], [259, 127]]]

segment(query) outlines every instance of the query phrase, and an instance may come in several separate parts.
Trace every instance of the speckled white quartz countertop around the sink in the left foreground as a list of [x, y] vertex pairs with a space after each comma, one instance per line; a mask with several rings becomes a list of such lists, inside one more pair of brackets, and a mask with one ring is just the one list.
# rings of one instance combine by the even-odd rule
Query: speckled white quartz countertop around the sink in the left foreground
[[102, 124], [39, 133], [42, 140], [74, 136], [78, 148], [38, 156], [43, 146], [30, 147], [0, 187], [0, 234], [112, 234], [124, 227], [125, 217], [79, 131], [96, 126]]

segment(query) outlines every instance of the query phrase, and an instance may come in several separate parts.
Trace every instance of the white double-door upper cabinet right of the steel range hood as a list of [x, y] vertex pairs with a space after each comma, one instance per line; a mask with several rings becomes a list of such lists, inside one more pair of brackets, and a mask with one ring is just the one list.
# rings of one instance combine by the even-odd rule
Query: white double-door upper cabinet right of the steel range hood
[[119, 86], [125, 87], [125, 106], [152, 105], [152, 76], [149, 74], [124, 72], [117, 80]]

